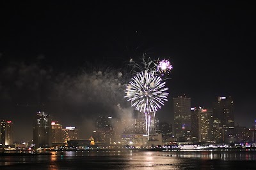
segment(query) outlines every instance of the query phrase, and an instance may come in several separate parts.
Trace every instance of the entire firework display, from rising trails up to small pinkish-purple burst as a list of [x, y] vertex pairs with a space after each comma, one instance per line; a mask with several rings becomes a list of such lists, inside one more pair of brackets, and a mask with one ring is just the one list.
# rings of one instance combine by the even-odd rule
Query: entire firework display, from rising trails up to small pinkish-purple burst
[[145, 127], [149, 141], [150, 129], [154, 127], [156, 111], [161, 108], [161, 105], [164, 105], [164, 101], [168, 101], [168, 92], [166, 92], [168, 88], [165, 87], [163, 77], [170, 72], [172, 65], [168, 60], [158, 62], [149, 57], [146, 60], [145, 55], [142, 60], [141, 64], [130, 60], [132, 78], [127, 85], [125, 97], [128, 97], [127, 101], [131, 101], [131, 106], [135, 110], [145, 114]]

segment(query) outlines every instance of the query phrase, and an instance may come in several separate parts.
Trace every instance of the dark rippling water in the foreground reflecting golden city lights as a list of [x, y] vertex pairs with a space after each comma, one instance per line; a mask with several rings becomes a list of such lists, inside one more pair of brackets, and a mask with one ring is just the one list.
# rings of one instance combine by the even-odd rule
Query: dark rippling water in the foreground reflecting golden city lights
[[0, 169], [256, 169], [256, 152], [79, 151], [1, 156]]

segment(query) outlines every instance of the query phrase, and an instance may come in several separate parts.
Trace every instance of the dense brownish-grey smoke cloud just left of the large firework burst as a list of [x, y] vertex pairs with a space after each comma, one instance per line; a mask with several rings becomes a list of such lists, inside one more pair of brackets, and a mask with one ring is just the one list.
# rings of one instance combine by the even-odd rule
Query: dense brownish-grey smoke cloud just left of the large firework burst
[[54, 89], [56, 96], [52, 97], [53, 100], [84, 108], [87, 117], [102, 113], [113, 115], [117, 104], [125, 103], [122, 73], [109, 68], [61, 76]]

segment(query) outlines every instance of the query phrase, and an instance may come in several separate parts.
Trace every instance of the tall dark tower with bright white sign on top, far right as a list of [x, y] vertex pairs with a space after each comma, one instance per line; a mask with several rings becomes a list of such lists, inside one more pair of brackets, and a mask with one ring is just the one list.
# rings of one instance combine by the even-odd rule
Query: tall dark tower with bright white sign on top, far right
[[227, 143], [234, 139], [234, 100], [232, 97], [218, 97], [213, 108], [214, 121], [220, 122], [222, 141]]

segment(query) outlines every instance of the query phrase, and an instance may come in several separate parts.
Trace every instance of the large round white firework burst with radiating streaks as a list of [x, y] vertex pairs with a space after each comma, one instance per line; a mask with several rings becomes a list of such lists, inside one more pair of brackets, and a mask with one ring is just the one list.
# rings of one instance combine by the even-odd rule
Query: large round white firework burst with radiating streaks
[[126, 89], [126, 94], [132, 102], [132, 107], [144, 113], [155, 112], [164, 105], [167, 100], [168, 88], [160, 76], [154, 72], [140, 72], [131, 78]]

